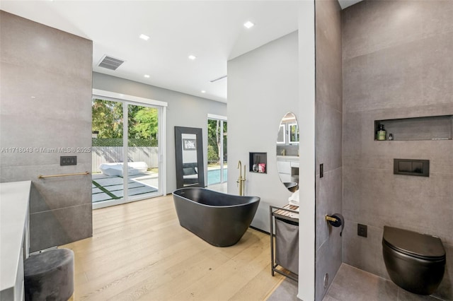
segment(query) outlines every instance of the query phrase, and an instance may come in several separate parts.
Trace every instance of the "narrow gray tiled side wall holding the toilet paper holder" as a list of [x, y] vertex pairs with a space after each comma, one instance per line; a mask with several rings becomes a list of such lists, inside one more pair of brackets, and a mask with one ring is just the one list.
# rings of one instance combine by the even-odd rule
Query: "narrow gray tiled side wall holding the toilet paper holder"
[[[343, 213], [341, 21], [338, 1], [316, 1], [316, 300], [342, 262], [340, 228], [326, 215]], [[319, 164], [323, 164], [323, 177]], [[324, 276], [328, 284], [324, 288]]]

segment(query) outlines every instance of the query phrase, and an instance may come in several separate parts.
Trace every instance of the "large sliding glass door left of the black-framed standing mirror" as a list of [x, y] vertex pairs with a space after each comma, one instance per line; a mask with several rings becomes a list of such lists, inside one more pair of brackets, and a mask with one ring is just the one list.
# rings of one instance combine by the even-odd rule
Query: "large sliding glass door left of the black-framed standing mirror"
[[112, 100], [92, 100], [93, 208], [164, 194], [165, 107]]

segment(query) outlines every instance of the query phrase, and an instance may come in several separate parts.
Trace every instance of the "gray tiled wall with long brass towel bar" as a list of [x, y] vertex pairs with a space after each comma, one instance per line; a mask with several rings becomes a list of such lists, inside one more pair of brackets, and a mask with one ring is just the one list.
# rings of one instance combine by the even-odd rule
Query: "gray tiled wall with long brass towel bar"
[[[92, 42], [1, 13], [0, 182], [32, 180], [30, 252], [92, 235], [91, 177], [38, 179], [91, 171]], [[57, 149], [47, 153], [42, 148]], [[60, 166], [60, 155], [77, 165]]]

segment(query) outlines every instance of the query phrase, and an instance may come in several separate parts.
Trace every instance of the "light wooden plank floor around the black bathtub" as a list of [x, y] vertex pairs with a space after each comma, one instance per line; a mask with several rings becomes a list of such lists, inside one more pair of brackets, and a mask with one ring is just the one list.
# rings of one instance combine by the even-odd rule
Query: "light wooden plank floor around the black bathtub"
[[74, 300], [266, 300], [283, 280], [270, 274], [269, 236], [249, 228], [214, 247], [180, 227], [172, 196], [93, 211], [93, 237], [75, 254]]

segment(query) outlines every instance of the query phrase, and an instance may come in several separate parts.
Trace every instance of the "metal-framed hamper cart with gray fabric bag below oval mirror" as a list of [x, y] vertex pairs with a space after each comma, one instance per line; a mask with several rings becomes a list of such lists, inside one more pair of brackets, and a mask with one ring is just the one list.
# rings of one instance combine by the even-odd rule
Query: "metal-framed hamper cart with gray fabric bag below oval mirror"
[[269, 211], [272, 276], [277, 272], [298, 281], [299, 207], [289, 204], [283, 207], [270, 206]]

